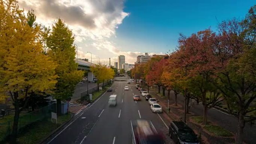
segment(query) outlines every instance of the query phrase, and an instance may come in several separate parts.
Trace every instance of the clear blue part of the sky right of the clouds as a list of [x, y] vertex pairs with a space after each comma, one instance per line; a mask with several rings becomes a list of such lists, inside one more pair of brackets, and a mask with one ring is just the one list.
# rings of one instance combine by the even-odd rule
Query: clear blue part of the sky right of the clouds
[[179, 33], [217, 30], [219, 22], [244, 18], [253, 0], [126, 0], [129, 16], [113, 41], [124, 51], [167, 52], [178, 45]]

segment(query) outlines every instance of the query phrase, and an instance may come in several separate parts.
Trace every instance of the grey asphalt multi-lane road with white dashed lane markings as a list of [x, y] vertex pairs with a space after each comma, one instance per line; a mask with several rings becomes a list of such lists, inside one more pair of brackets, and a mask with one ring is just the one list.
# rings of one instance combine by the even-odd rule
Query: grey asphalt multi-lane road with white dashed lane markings
[[[129, 86], [129, 91], [124, 91], [125, 86]], [[134, 94], [140, 95], [135, 84], [116, 82], [112, 89], [77, 114], [47, 144], [131, 144], [130, 120], [136, 119], [151, 120], [156, 130], [165, 135], [166, 144], [173, 143], [167, 136], [168, 129], [161, 118], [166, 125], [168, 122], [162, 114], [152, 113], [142, 96], [142, 101], [133, 101]], [[108, 106], [112, 94], [117, 95], [116, 107]]]

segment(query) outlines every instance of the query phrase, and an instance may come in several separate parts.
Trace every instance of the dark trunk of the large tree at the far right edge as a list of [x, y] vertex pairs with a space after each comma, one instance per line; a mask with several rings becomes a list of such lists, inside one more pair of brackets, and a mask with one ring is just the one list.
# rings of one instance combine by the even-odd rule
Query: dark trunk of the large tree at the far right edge
[[235, 136], [235, 144], [242, 144], [243, 143], [243, 133], [244, 133], [244, 116], [242, 112], [238, 114], [238, 127], [237, 127], [237, 134]]

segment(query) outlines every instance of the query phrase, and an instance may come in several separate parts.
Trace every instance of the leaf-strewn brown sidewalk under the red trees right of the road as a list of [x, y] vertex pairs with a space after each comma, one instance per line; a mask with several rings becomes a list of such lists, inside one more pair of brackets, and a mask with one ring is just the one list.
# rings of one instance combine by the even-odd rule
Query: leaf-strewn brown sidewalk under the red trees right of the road
[[[158, 98], [159, 103], [162, 105], [163, 110], [165, 113], [167, 113], [167, 91], [165, 92], [165, 97], [159, 96], [157, 94], [158, 89], [150, 89], [149, 93], [152, 94], [153, 96], [155, 96], [156, 98]], [[162, 89], [161, 89], [161, 94], [162, 94]], [[182, 95], [178, 95], [177, 96], [177, 103], [179, 107], [175, 107], [174, 106], [174, 94], [173, 92], [170, 92], [170, 101], [169, 101], [170, 105], [170, 112], [167, 113], [168, 116], [172, 119], [172, 120], [183, 120], [184, 119], [184, 97]], [[202, 134], [202, 138], [205, 141], [210, 142], [210, 144], [224, 144], [224, 143], [234, 143], [234, 139], [232, 138], [217, 138], [217, 137], [212, 137], [210, 135], [208, 135], [207, 133], [205, 133], [204, 131], [202, 131], [202, 129], [198, 126], [195, 125], [191, 122], [189, 122], [189, 117], [190, 116], [202, 116], [202, 112], [203, 112], [203, 107], [201, 104], [195, 104], [192, 105], [192, 107], [189, 109], [189, 111], [191, 112], [191, 114], [188, 114], [188, 118], [187, 118], [187, 123], [189, 126], [191, 126], [191, 128], [195, 129], [197, 132], [201, 132]], [[237, 119], [234, 116], [231, 115], [227, 115], [224, 114], [220, 111], [214, 110], [214, 109], [210, 109], [208, 110], [208, 115], [207, 115], [207, 119], [213, 123], [215, 123], [216, 125], [222, 126], [223, 128], [227, 129], [228, 131], [231, 131], [232, 133], [235, 134], [236, 132], [236, 126], [237, 126]], [[249, 124], [246, 124], [246, 128], [244, 129], [244, 141], [248, 144], [253, 144], [253, 141], [256, 139], [255, 137], [255, 133], [256, 133], [256, 126], [250, 126]]]

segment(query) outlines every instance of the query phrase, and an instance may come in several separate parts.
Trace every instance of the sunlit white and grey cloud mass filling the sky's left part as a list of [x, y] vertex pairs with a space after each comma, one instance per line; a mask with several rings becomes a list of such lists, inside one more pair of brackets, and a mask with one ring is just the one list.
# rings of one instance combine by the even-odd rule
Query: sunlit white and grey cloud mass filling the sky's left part
[[129, 13], [124, 12], [124, 0], [18, 0], [25, 11], [34, 9], [37, 23], [51, 27], [57, 18], [63, 19], [75, 35], [78, 57], [92, 62], [117, 62], [118, 55], [125, 55], [133, 64], [141, 52], [124, 52], [110, 41], [116, 37], [116, 29]]

